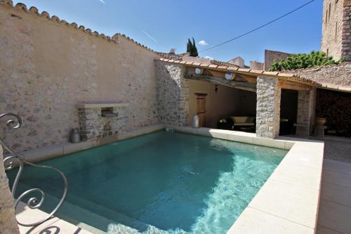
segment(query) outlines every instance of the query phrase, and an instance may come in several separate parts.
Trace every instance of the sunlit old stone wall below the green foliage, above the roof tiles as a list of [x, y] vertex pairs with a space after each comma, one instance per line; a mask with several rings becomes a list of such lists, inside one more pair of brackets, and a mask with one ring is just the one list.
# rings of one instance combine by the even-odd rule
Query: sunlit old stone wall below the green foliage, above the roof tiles
[[284, 71], [284, 73], [298, 74], [301, 77], [312, 79], [314, 82], [323, 84], [351, 86], [351, 62], [340, 63], [339, 65]]

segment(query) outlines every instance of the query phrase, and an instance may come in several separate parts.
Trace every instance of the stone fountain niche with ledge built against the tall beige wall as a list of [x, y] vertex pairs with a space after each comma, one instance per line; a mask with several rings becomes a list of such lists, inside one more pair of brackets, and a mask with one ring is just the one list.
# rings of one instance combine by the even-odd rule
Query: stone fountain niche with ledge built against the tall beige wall
[[128, 103], [77, 104], [83, 141], [114, 136], [126, 131]]

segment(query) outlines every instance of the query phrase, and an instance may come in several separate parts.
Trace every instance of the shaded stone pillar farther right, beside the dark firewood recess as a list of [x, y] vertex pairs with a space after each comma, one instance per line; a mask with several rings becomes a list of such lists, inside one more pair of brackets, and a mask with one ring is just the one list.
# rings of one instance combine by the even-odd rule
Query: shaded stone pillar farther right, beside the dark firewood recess
[[316, 88], [310, 91], [298, 91], [298, 117], [296, 120], [296, 135], [310, 136], [312, 134], [315, 105], [316, 105]]

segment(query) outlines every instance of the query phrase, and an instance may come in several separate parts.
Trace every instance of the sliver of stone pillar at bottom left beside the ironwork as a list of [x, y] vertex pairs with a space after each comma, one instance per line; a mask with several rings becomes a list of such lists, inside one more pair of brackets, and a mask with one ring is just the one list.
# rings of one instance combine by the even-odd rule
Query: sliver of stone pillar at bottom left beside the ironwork
[[14, 200], [10, 188], [8, 188], [8, 178], [5, 173], [2, 161], [2, 148], [0, 145], [0, 232], [20, 233], [15, 219]]

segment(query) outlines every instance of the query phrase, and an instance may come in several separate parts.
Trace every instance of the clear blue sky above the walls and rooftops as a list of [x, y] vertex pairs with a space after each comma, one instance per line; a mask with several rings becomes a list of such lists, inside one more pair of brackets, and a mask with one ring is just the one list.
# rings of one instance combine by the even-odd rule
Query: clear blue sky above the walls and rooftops
[[[162, 52], [186, 49], [188, 37], [214, 46], [263, 25], [308, 0], [22, 0], [68, 22], [112, 36], [121, 32]], [[17, 3], [18, 1], [14, 1]], [[322, 0], [229, 44], [200, 53], [227, 61], [241, 56], [264, 60], [265, 48], [289, 53], [319, 50], [322, 34]]]

